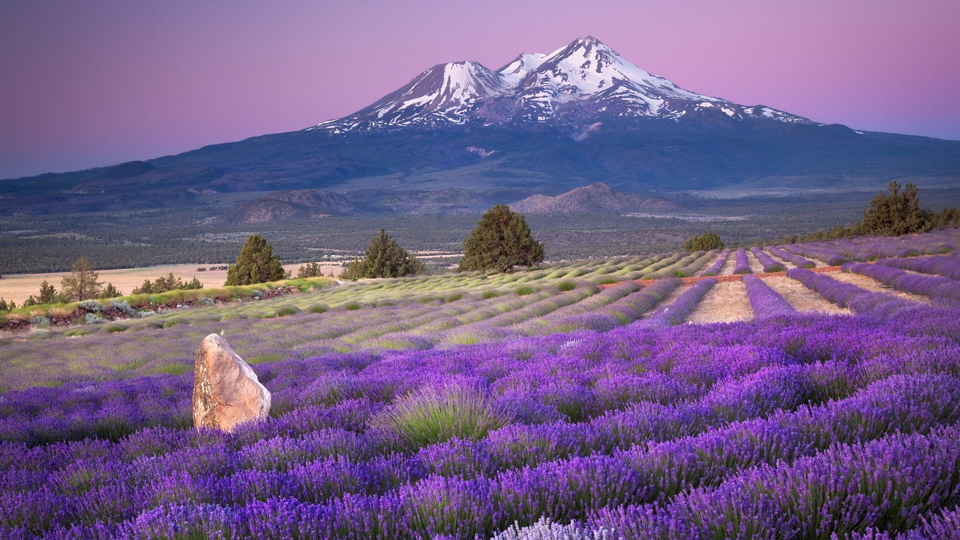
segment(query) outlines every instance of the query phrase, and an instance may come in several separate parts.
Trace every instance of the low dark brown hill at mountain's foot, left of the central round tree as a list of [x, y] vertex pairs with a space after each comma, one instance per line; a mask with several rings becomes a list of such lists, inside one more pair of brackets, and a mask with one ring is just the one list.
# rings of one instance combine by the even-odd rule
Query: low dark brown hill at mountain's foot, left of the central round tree
[[241, 203], [216, 218], [223, 225], [353, 215], [359, 210], [342, 195], [320, 189], [277, 191]]

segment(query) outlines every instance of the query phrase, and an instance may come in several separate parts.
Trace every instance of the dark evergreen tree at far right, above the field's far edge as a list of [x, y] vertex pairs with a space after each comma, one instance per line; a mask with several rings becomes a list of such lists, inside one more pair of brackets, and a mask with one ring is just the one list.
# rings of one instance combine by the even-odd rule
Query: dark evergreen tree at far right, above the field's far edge
[[891, 182], [889, 193], [880, 191], [863, 210], [860, 232], [880, 236], [899, 236], [906, 233], [923, 233], [932, 227], [932, 212], [920, 208], [915, 184], [906, 184], [900, 192], [900, 183]]

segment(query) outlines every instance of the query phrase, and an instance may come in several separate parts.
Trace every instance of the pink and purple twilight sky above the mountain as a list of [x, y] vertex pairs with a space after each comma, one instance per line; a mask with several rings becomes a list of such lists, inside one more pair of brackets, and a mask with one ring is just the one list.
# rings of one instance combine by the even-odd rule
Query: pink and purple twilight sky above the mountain
[[297, 130], [587, 35], [737, 103], [960, 139], [958, 24], [957, 0], [4, 0], [0, 178]]

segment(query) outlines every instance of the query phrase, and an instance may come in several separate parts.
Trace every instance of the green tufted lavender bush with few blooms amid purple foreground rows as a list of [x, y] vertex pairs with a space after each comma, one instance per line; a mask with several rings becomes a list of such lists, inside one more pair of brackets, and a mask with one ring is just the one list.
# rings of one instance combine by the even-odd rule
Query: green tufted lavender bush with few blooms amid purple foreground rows
[[390, 431], [407, 450], [454, 437], [478, 440], [514, 420], [514, 413], [473, 386], [425, 387], [377, 414], [372, 425]]

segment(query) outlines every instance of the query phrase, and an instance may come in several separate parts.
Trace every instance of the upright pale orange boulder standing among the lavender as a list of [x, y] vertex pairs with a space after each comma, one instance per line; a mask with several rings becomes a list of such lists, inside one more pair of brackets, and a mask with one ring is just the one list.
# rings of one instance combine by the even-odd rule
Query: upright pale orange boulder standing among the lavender
[[193, 376], [195, 428], [230, 431], [241, 422], [266, 418], [270, 412], [270, 392], [216, 333], [204, 337]]

